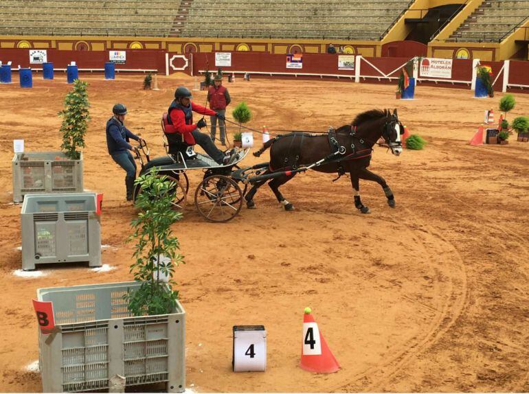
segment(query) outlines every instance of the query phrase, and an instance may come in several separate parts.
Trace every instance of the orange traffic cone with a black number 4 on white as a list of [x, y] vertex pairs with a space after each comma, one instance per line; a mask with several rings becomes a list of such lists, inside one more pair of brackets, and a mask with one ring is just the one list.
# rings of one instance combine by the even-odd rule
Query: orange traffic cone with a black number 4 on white
[[335, 356], [330, 351], [324, 336], [311, 314], [311, 308], [305, 308], [303, 316], [303, 341], [300, 367], [305, 371], [332, 373], [340, 369]]

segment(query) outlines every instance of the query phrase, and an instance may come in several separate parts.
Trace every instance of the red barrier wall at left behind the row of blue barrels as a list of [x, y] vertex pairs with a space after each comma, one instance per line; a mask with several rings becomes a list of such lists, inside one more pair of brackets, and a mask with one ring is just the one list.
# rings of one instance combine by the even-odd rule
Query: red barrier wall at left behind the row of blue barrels
[[[109, 51], [59, 51], [46, 49], [47, 61], [54, 68], [65, 69], [71, 61], [76, 62], [80, 69], [103, 69], [109, 61]], [[42, 65], [30, 65], [29, 49], [0, 49], [0, 60], [3, 64], [12, 62], [12, 68], [32, 67], [42, 69]], [[125, 64], [116, 64], [115, 69], [157, 69], [159, 73], [166, 71], [166, 55], [163, 51], [127, 50]]]

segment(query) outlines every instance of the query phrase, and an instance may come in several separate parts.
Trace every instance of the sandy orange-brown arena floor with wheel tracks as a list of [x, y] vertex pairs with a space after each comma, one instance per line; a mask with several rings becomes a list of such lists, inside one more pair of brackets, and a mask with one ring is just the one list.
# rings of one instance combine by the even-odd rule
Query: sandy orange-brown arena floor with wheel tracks
[[[115, 102], [127, 125], [164, 154], [159, 119], [188, 77], [159, 78], [143, 91], [142, 76], [100, 76], [90, 82], [85, 188], [104, 193], [104, 264], [42, 266], [46, 276], [16, 277], [21, 268], [21, 205], [12, 204], [12, 140], [27, 151], [59, 150], [63, 76], [34, 79], [33, 89], [0, 86], [0, 391], [41, 391], [36, 289], [131, 280], [132, 245], [124, 240], [135, 209], [124, 200], [124, 172], [106, 152], [104, 125]], [[469, 146], [485, 109], [502, 96], [475, 100], [471, 91], [419, 86], [413, 101], [396, 101], [394, 86], [352, 82], [236, 80], [233, 103], [245, 100], [249, 126], [324, 131], [370, 108], [398, 108], [423, 151], [394, 157], [375, 148], [371, 169], [396, 198], [361, 182], [372, 211], [354, 208], [350, 181], [311, 172], [282, 187], [296, 207], [285, 212], [268, 187], [258, 209], [243, 208], [227, 224], [205, 222], [188, 202], [175, 225], [186, 264], [177, 269], [187, 312], [186, 386], [194, 391], [529, 391], [529, 143]], [[205, 104], [205, 92], [195, 92]], [[529, 115], [517, 94], [508, 119]], [[233, 105], [232, 105], [233, 108]], [[499, 113], [495, 111], [496, 116]], [[235, 130], [230, 127], [230, 134]], [[260, 135], [255, 135], [260, 141]], [[256, 149], [260, 147], [257, 144]], [[267, 154], [263, 155], [267, 159]], [[243, 163], [262, 161], [248, 157]], [[191, 190], [202, 173], [190, 174]], [[190, 193], [190, 196], [192, 194]], [[300, 360], [306, 306], [341, 370], [311, 375]], [[232, 325], [264, 324], [266, 373], [233, 373]]]

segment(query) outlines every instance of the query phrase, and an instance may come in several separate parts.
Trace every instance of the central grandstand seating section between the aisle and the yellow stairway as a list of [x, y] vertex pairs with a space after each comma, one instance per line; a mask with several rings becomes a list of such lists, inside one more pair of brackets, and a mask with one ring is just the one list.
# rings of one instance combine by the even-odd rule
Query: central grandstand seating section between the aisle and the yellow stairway
[[409, 0], [193, 0], [171, 36], [379, 40]]

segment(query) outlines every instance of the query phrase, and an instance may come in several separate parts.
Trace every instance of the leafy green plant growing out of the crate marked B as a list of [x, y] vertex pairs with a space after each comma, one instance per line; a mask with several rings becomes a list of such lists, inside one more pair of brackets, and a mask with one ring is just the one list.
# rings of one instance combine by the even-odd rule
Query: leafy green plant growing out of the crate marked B
[[[124, 299], [135, 316], [167, 314], [174, 310], [178, 299], [178, 291], [172, 290], [176, 285], [172, 274], [175, 267], [183, 264], [178, 238], [171, 230], [171, 225], [182, 217], [171, 209], [176, 185], [157, 170], [137, 178], [135, 185], [139, 187], [136, 206], [140, 211], [131, 222], [133, 234], [128, 237], [129, 242], [136, 242], [130, 272], [142, 284], [125, 294]], [[160, 275], [171, 279], [166, 283]]]

